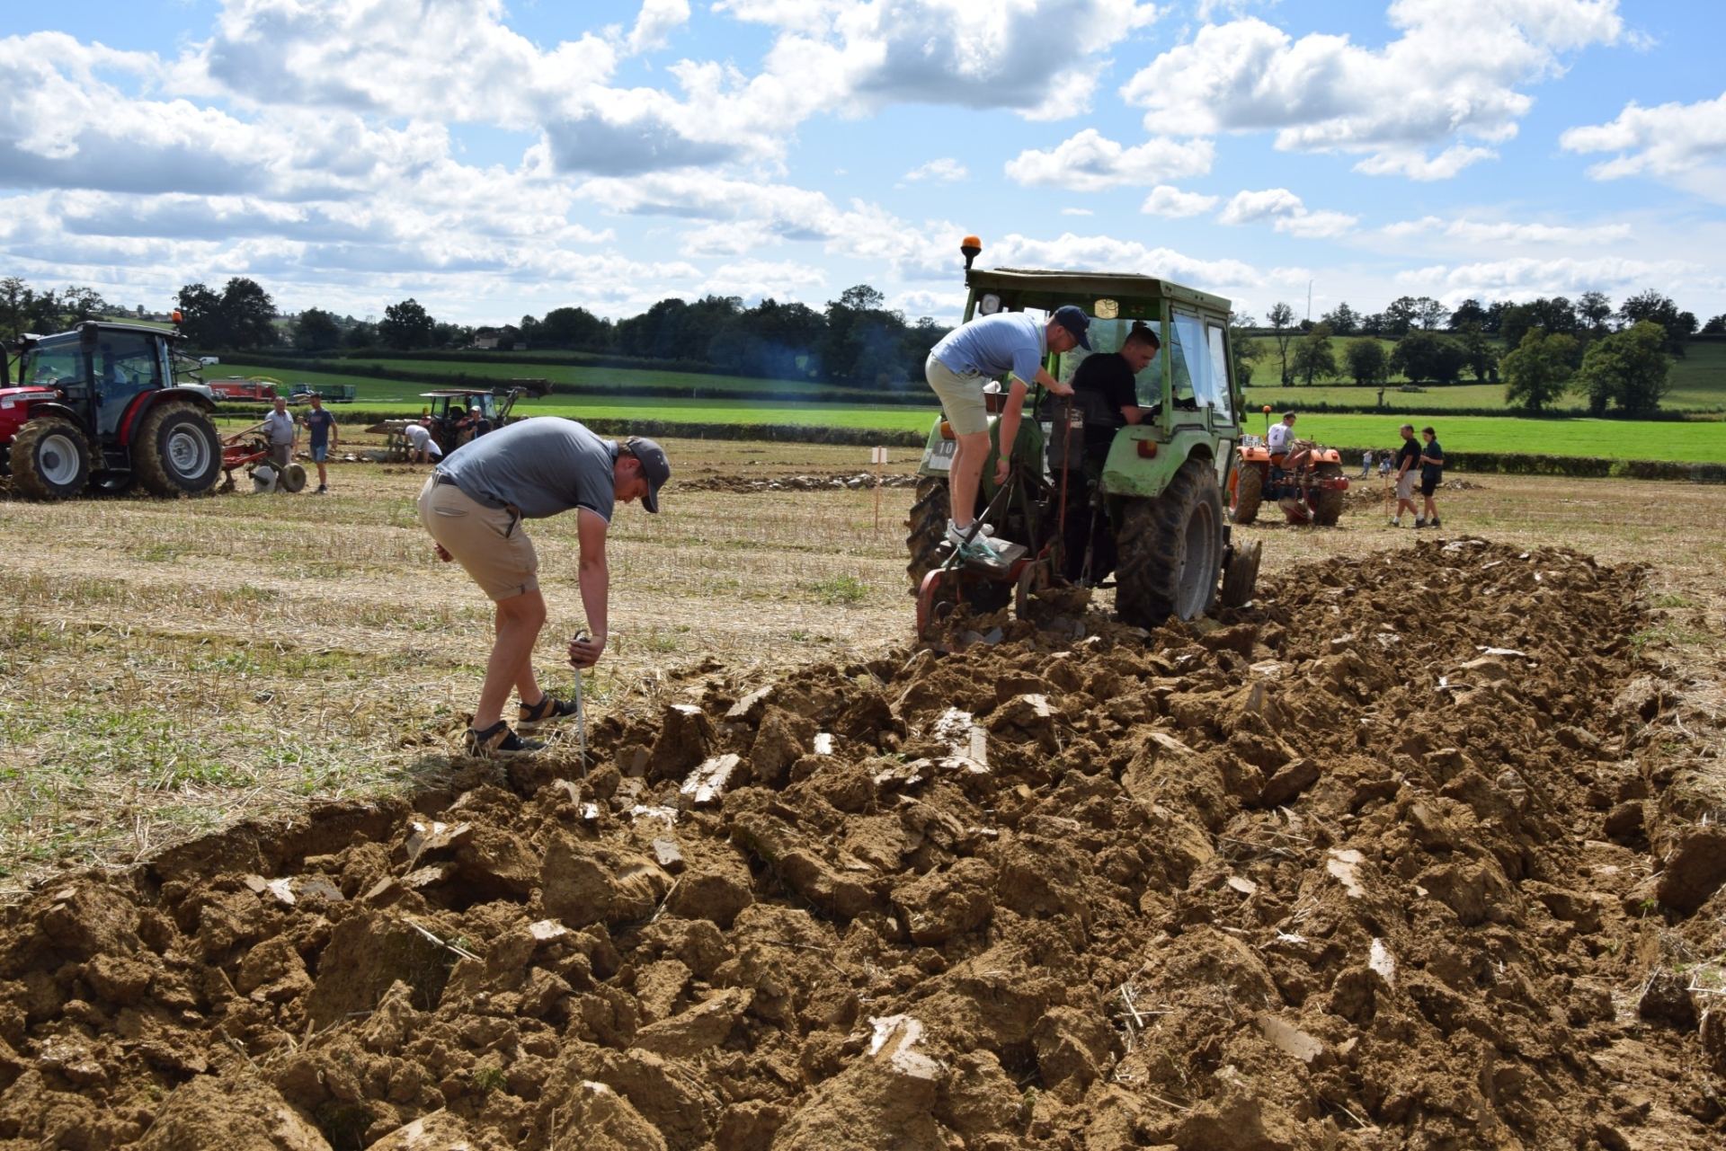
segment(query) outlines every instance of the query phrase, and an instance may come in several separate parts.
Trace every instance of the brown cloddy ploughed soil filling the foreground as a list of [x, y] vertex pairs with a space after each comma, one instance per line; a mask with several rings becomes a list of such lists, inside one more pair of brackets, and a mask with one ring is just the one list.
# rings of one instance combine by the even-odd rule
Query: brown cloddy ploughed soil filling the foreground
[[0, 928], [0, 1148], [1721, 1146], [1640, 580], [1427, 540], [954, 620], [64, 878]]

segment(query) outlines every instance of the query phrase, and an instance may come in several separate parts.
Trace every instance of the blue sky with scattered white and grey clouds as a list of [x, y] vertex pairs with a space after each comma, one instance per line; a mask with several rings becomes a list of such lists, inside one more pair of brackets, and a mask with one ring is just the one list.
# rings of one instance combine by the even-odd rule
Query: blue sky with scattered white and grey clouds
[[1726, 312], [1717, 0], [0, 0], [0, 274], [499, 323], [986, 266]]

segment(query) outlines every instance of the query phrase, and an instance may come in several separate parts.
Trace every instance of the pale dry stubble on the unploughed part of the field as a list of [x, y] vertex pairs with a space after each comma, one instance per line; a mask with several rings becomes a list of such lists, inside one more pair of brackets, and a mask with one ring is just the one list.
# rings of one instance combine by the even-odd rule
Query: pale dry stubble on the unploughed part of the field
[[[866, 450], [668, 442], [680, 475], [856, 475]], [[915, 468], [894, 450], [892, 471]], [[438, 564], [423, 468], [331, 468], [333, 495], [0, 502], [0, 884], [126, 863], [235, 818], [414, 787], [447, 768], [490, 604]], [[1717, 488], [1490, 476], [1446, 494], [1446, 533], [1641, 559], [1662, 621], [1643, 642], [1719, 716], [1726, 507]], [[761, 680], [910, 638], [908, 490], [666, 492], [611, 533], [613, 647], [597, 709], [640, 709], [715, 659]], [[570, 690], [582, 623], [571, 518], [533, 525], [552, 621], [537, 652]], [[1351, 511], [1334, 531], [1255, 526], [1267, 569], [1412, 544]], [[1422, 533], [1424, 535], [1424, 533]], [[1408, 578], [1417, 580], [1419, 571]], [[1705, 739], [1717, 739], [1719, 728]]]

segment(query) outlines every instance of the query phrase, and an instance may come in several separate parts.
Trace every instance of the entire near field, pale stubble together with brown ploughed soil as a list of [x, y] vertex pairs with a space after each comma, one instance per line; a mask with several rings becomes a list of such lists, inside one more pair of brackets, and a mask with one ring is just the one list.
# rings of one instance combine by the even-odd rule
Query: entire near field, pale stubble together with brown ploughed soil
[[1719, 488], [1374, 488], [1241, 530], [1250, 609], [935, 659], [908, 490], [723, 490], [858, 449], [666, 449], [573, 790], [450, 756], [488, 606], [423, 469], [0, 502], [0, 1141], [1717, 1146]]

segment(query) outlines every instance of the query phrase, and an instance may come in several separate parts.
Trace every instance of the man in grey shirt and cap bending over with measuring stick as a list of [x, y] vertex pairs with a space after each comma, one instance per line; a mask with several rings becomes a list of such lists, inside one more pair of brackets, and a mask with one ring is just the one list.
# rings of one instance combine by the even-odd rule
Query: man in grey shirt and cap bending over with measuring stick
[[499, 428], [449, 454], [419, 492], [419, 521], [437, 542], [438, 559], [457, 561], [497, 604], [497, 640], [485, 664], [485, 683], [464, 737], [469, 756], [511, 756], [539, 751], [502, 718], [514, 687], [521, 706], [516, 723], [533, 732], [575, 714], [575, 704], [552, 699], [533, 678], [533, 644], [545, 626], [539, 590], [539, 556], [521, 530], [523, 519], [545, 519], [571, 507], [576, 514], [582, 607], [590, 638], [570, 640], [576, 673], [606, 651], [606, 609], [611, 576], [606, 530], [616, 500], [640, 500], [659, 511], [659, 487], [671, 478], [665, 450], [652, 440], [602, 440], [573, 419], [540, 418]]

